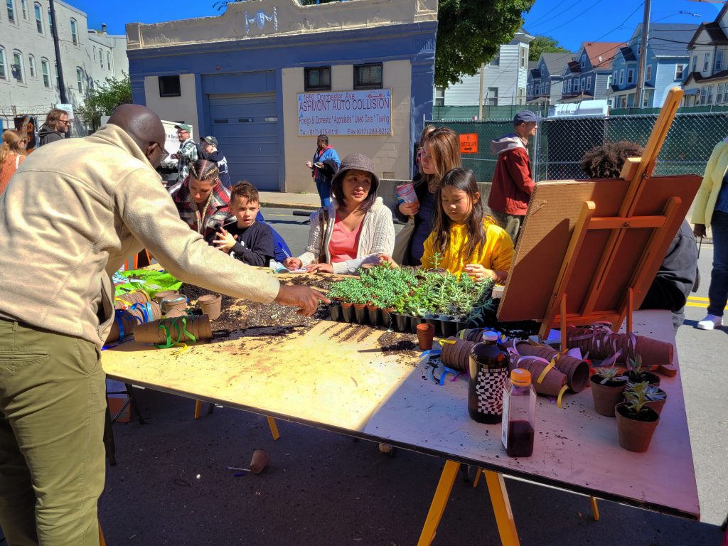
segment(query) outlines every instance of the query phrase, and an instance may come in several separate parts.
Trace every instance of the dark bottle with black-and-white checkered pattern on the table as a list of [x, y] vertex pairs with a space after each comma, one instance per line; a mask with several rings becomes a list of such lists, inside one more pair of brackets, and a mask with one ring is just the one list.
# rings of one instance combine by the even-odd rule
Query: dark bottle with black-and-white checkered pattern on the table
[[498, 347], [498, 334], [486, 332], [470, 351], [467, 412], [479, 423], [499, 423], [503, 414], [503, 387], [508, 379], [508, 353]]

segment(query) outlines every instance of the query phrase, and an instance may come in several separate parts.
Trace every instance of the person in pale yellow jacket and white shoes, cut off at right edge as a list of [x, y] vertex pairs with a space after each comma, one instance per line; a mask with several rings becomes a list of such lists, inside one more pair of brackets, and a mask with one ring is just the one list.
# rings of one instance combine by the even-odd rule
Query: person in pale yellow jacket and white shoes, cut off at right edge
[[697, 323], [700, 330], [713, 330], [723, 325], [723, 312], [728, 301], [727, 141], [721, 141], [713, 148], [692, 209], [695, 237], [705, 237], [708, 226], [713, 232], [713, 269], [711, 285], [708, 288], [708, 314]]

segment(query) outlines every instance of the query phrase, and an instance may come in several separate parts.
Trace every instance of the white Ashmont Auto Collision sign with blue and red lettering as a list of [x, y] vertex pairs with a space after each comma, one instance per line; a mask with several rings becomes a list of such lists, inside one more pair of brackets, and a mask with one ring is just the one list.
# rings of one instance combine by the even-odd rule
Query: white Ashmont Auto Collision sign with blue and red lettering
[[392, 90], [298, 93], [298, 136], [392, 135]]

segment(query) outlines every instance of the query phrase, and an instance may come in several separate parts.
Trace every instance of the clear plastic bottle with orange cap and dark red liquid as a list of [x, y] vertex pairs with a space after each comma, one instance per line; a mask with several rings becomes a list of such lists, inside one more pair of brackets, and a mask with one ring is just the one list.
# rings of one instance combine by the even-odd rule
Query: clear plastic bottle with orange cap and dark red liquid
[[503, 390], [501, 440], [510, 457], [529, 457], [534, 452], [536, 391], [531, 372], [515, 368]]

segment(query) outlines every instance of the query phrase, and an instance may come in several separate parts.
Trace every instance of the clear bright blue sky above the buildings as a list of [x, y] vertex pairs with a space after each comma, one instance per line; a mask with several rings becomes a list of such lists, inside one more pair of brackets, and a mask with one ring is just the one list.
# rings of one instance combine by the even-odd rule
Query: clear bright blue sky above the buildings
[[[119, 8], [116, 2], [98, 0], [70, 0], [88, 15], [90, 28], [108, 25], [108, 32], [123, 34], [124, 24], [159, 23], [173, 19], [189, 19], [218, 15], [213, 8], [215, 0], [194, 2], [130, 0]], [[477, 1], [477, 0], [473, 0]], [[708, 4], [689, 0], [653, 0], [653, 23], [694, 23], [711, 21], [722, 4]], [[531, 34], [546, 34], [557, 39], [569, 50], [579, 49], [582, 41], [626, 41], [641, 22], [644, 4], [641, 0], [536, 0], [526, 14], [524, 28]], [[679, 12], [695, 13], [681, 15]]]

